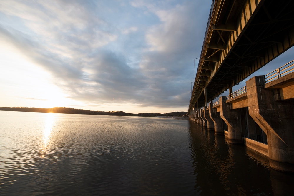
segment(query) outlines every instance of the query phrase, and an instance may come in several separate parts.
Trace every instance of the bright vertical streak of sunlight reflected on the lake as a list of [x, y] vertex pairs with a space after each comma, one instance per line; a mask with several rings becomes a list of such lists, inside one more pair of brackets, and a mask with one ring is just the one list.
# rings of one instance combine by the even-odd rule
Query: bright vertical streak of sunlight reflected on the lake
[[45, 155], [48, 153], [47, 150], [49, 149], [49, 145], [51, 143], [51, 132], [52, 132], [52, 125], [54, 121], [54, 114], [53, 113], [47, 113], [46, 114], [46, 121], [45, 121], [45, 127], [44, 127], [44, 133], [43, 138], [41, 142], [41, 157], [45, 157]]

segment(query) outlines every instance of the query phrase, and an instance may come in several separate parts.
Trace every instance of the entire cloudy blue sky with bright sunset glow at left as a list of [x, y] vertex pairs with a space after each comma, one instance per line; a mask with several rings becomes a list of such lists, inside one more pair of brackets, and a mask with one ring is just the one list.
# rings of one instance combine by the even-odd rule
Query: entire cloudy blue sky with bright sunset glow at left
[[[0, 107], [187, 111], [210, 6], [1, 0]], [[259, 71], [290, 58], [293, 50]]]

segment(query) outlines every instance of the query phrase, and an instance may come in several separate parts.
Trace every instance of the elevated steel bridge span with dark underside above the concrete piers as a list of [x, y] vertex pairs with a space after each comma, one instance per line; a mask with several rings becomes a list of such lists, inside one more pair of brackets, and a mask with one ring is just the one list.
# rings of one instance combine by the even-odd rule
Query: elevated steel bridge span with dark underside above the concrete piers
[[188, 113], [294, 45], [294, 1], [215, 0]]

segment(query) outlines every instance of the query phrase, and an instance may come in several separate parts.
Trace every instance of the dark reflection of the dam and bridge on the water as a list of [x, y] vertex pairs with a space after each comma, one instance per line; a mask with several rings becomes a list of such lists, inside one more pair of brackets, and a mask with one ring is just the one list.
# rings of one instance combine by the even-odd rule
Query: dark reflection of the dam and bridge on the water
[[294, 175], [271, 169], [265, 155], [193, 122], [189, 134], [200, 195], [293, 195]]

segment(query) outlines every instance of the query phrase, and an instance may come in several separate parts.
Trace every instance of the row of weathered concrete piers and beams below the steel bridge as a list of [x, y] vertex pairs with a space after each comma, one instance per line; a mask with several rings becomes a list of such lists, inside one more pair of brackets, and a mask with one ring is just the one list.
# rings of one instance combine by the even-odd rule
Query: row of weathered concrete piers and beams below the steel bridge
[[265, 76], [255, 76], [246, 86], [239, 96], [222, 96], [190, 118], [214, 128], [216, 135], [225, 133], [229, 143], [267, 155], [273, 169], [294, 172], [294, 73], [268, 83]]

